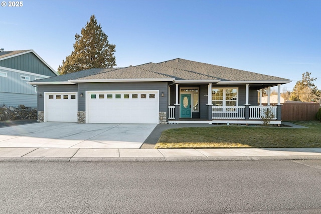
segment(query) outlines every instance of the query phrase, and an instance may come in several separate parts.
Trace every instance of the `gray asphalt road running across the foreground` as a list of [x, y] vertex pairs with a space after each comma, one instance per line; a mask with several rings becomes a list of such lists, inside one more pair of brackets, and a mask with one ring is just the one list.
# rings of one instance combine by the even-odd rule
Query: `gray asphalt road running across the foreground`
[[321, 213], [321, 160], [0, 162], [0, 213]]

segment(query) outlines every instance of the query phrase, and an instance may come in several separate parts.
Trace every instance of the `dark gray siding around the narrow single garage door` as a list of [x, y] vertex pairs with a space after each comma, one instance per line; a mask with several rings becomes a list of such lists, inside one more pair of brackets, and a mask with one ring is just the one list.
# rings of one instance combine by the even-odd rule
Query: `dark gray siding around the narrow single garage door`
[[[42, 94], [42, 97], [38, 97], [38, 111], [44, 110], [44, 92], [77, 92], [78, 85], [39, 85], [38, 95]], [[78, 94], [79, 96], [79, 94]], [[78, 101], [79, 101], [78, 97]]]

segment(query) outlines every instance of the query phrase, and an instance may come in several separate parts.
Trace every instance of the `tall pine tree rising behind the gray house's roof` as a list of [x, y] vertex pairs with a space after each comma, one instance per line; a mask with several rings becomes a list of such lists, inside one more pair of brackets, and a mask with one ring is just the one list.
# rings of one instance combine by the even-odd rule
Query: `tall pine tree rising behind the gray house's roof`
[[81, 34], [75, 35], [74, 51], [58, 67], [60, 75], [90, 68], [112, 68], [116, 66], [116, 46], [110, 44], [108, 36], [97, 24], [95, 15], [90, 17]]

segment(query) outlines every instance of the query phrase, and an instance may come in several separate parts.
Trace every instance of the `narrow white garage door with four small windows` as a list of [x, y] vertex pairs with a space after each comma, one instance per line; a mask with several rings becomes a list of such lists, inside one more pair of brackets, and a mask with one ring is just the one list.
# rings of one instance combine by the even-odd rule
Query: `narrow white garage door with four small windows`
[[77, 93], [44, 93], [45, 122], [77, 122]]

